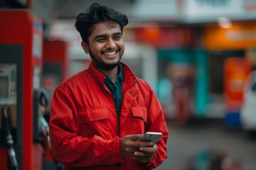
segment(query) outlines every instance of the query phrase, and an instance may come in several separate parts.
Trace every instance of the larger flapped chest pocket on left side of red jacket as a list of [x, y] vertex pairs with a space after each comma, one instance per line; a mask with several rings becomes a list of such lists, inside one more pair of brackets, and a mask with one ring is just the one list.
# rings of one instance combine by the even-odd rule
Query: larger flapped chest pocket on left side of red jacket
[[99, 135], [107, 139], [109, 113], [107, 107], [86, 108], [78, 111], [78, 123], [82, 137]]

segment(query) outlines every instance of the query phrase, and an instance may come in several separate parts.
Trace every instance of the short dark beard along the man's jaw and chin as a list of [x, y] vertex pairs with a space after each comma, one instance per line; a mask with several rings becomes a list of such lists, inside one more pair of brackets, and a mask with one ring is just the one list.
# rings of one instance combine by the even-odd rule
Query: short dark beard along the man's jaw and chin
[[89, 55], [92, 59], [92, 63], [95, 65], [95, 67], [99, 68], [99, 69], [103, 69], [103, 70], [111, 70], [114, 69], [115, 67], [117, 67], [117, 65], [119, 64], [122, 55], [120, 55], [119, 60], [117, 62], [114, 63], [106, 63], [103, 60], [97, 60], [97, 58], [95, 57], [95, 55], [93, 55], [92, 51], [89, 48]]

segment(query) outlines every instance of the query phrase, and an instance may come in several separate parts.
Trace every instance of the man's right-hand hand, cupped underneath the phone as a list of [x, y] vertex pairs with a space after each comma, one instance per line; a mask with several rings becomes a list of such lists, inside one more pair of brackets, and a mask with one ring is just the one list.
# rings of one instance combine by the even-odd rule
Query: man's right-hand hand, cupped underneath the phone
[[139, 147], [139, 151], [134, 152], [134, 158], [138, 162], [148, 163], [154, 156], [157, 148], [157, 145], [154, 145], [154, 147]]

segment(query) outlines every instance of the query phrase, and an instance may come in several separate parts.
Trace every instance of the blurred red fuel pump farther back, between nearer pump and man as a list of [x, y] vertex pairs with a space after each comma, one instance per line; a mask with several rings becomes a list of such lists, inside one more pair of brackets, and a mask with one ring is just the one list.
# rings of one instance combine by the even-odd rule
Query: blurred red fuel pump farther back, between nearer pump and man
[[[50, 96], [49, 103], [53, 91], [67, 77], [68, 73], [68, 42], [63, 40], [43, 40], [43, 87]], [[45, 118], [45, 119], [44, 119]], [[43, 120], [46, 127], [50, 118], [50, 104], [46, 106]], [[43, 159], [43, 170], [63, 169], [63, 164], [56, 162], [50, 151], [50, 145], [45, 146], [45, 154]]]

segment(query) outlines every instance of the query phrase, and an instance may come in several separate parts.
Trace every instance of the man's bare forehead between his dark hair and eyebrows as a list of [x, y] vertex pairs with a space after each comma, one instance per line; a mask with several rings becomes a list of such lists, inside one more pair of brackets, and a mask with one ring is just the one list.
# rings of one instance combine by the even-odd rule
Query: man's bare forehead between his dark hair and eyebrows
[[92, 28], [92, 37], [95, 35], [107, 35], [112, 33], [121, 32], [121, 28], [118, 23], [101, 22], [95, 23]]

